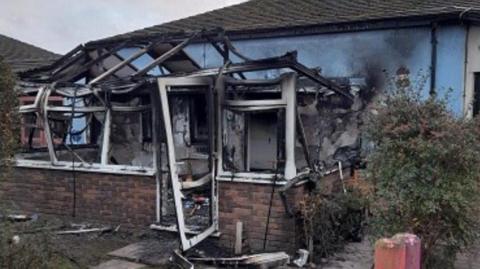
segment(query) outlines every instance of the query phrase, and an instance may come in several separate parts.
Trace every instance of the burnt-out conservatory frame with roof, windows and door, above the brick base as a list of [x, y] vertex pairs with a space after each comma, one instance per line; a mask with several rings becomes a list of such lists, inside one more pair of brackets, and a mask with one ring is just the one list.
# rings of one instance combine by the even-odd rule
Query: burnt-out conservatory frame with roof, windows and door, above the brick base
[[[184, 51], [192, 42], [211, 44], [223, 66], [201, 68]], [[122, 57], [123, 49], [132, 52]], [[141, 68], [133, 64], [146, 56]], [[279, 75], [259, 79], [265, 70]], [[219, 231], [218, 180], [286, 190], [322, 172], [307, 141], [314, 127], [297, 104], [358, 99], [357, 87], [322, 77], [295, 52], [249, 59], [222, 31], [81, 45], [21, 74], [16, 90], [24, 145], [17, 166], [155, 176], [152, 228], [177, 231], [183, 251]], [[208, 208], [187, 212], [187, 195]]]

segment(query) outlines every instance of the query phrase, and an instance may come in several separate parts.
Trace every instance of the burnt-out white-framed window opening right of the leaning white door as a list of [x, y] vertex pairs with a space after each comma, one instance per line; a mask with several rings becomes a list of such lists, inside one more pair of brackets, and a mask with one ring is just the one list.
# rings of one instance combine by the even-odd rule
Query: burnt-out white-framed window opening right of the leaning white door
[[275, 80], [225, 79], [219, 97], [224, 104], [221, 176], [296, 175], [294, 80], [289, 74]]

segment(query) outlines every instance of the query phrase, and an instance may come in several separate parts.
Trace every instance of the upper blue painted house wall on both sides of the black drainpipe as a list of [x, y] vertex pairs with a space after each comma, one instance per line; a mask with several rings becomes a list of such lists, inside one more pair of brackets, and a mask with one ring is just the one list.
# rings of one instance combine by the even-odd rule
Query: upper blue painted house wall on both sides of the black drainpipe
[[[463, 109], [465, 36], [462, 26], [438, 29], [436, 85], [440, 94], [453, 89], [450, 108], [457, 114]], [[432, 44], [429, 27], [242, 40], [234, 45], [253, 59], [297, 50], [301, 63], [321, 68], [324, 76], [365, 77], [370, 86], [381, 89], [388, 87], [386, 81], [400, 67], [406, 67], [413, 84], [421, 87], [424, 95], [430, 90]], [[222, 65], [222, 58], [209, 44], [194, 44], [186, 51], [203, 67]], [[250, 77], [277, 75], [278, 71], [260, 72]]]

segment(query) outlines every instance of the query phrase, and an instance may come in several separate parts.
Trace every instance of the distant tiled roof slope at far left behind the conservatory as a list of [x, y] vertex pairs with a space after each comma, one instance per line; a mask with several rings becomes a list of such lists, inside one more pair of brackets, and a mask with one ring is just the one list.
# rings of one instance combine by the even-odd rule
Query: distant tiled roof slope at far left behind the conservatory
[[13, 72], [51, 64], [60, 55], [0, 34], [0, 57]]

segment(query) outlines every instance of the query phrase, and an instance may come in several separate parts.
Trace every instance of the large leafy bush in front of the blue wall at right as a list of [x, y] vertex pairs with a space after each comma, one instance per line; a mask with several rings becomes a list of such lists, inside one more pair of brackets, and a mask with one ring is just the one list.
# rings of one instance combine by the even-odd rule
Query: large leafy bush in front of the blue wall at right
[[446, 102], [399, 87], [365, 130], [375, 189], [370, 231], [374, 239], [418, 235], [423, 268], [453, 268], [456, 254], [479, 234], [480, 125], [455, 117]]

